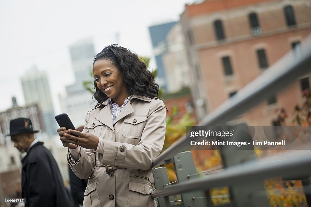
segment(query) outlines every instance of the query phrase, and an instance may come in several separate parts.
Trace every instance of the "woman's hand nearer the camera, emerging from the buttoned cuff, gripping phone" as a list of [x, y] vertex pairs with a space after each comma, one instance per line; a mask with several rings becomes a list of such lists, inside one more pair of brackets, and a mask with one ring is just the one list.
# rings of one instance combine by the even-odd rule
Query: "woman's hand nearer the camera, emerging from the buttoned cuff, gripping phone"
[[[72, 134], [75, 134], [78, 137], [73, 136]], [[79, 145], [83, 148], [94, 149], [94, 150], [97, 149], [97, 146], [99, 143], [99, 137], [97, 137], [93, 134], [87, 134], [87, 133], [79, 132], [77, 130], [67, 130], [66, 132], [63, 133], [63, 137], [61, 137], [61, 140], [70, 146]]]

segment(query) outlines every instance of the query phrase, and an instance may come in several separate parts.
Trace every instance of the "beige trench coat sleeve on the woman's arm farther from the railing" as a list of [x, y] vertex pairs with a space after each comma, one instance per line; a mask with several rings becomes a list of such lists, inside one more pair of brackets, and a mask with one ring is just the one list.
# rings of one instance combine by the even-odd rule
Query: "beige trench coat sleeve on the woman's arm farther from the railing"
[[[90, 112], [86, 114], [86, 123], [88, 123], [89, 121], [89, 114]], [[83, 132], [89, 133], [87, 128], [84, 128]], [[71, 156], [68, 148], [67, 161], [72, 171], [78, 176], [78, 178], [86, 179], [93, 174], [93, 171], [95, 169], [95, 152], [91, 149], [85, 149], [81, 147], [79, 159], [75, 160]]]

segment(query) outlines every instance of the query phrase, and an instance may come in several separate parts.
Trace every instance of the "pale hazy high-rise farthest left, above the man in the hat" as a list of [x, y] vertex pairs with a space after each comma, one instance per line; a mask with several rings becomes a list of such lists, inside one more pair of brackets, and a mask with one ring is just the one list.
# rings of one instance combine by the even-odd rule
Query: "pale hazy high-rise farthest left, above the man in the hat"
[[49, 136], [57, 134], [53, 102], [46, 72], [39, 71], [36, 67], [31, 68], [21, 77], [21, 84], [26, 105], [38, 104], [45, 131]]

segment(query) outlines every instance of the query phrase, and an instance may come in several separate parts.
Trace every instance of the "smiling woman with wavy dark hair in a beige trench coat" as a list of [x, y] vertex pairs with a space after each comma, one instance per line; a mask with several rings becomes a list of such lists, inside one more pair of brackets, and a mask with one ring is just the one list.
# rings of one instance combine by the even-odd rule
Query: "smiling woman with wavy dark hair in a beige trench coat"
[[83, 132], [57, 130], [72, 170], [89, 178], [83, 206], [156, 206], [151, 164], [163, 147], [166, 113], [159, 85], [136, 54], [116, 44], [95, 56], [93, 73], [98, 103]]

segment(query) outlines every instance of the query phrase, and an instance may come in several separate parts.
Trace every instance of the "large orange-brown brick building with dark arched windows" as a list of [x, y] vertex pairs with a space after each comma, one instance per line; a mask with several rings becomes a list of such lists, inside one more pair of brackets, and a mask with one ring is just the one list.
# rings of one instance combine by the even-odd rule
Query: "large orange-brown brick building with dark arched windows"
[[[206, 0], [181, 15], [197, 117], [202, 120], [311, 33], [309, 0]], [[309, 87], [309, 74], [239, 116], [270, 126], [275, 111], [292, 114]], [[290, 98], [289, 98], [290, 97]], [[291, 117], [289, 118], [291, 120]]]

